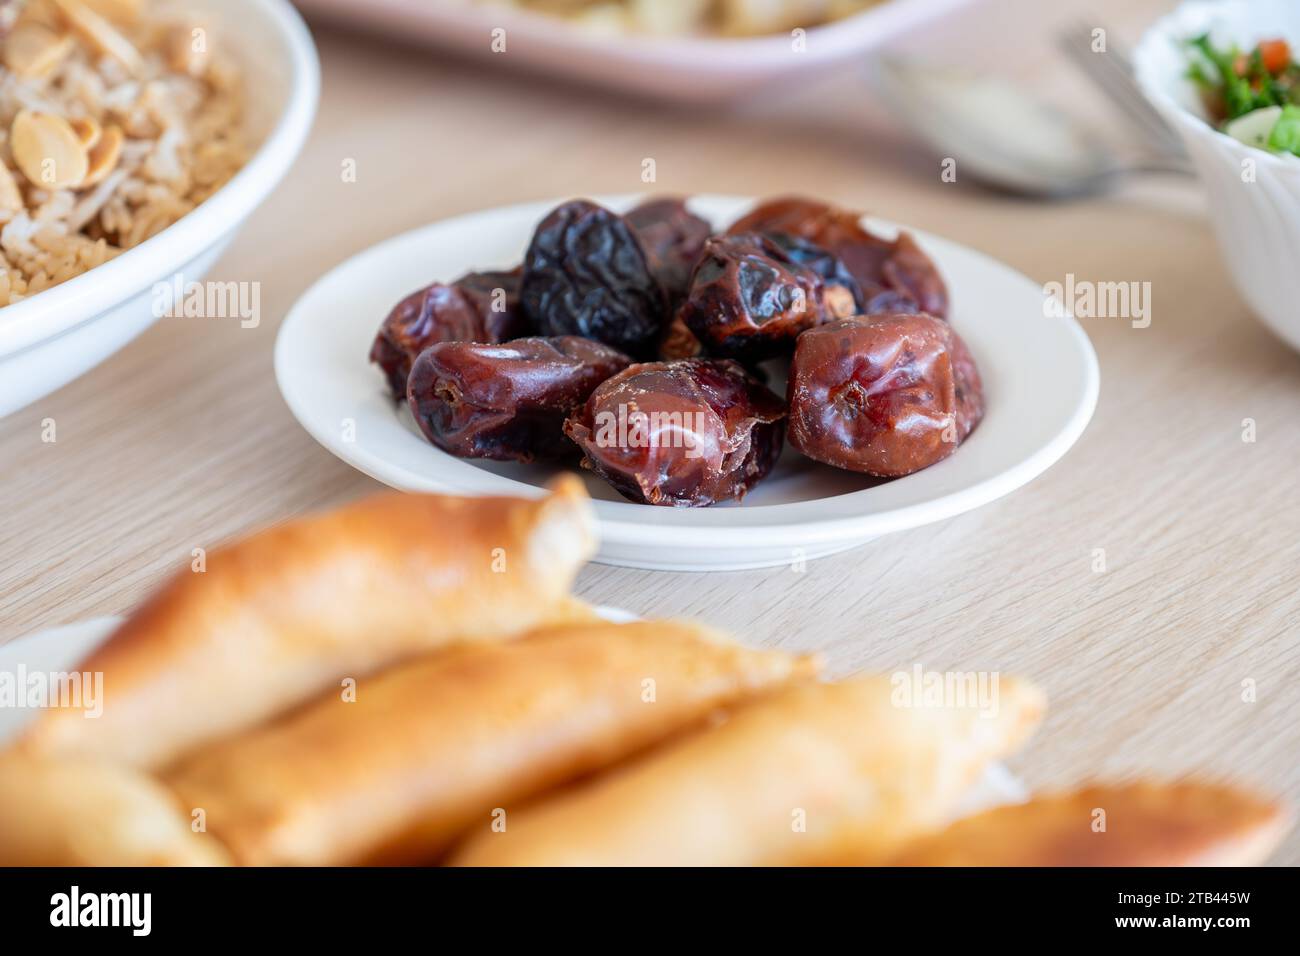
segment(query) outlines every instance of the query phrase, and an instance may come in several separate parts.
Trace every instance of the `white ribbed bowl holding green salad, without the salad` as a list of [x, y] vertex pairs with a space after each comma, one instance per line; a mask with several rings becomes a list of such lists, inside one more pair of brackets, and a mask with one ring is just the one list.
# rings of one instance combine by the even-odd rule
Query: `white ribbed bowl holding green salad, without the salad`
[[1134, 53], [1143, 91], [1179, 131], [1205, 183], [1238, 290], [1265, 325], [1300, 349], [1300, 157], [1277, 156], [1214, 129], [1187, 79], [1183, 43], [1206, 31], [1245, 49], [1274, 36], [1300, 49], [1300, 3], [1184, 3], [1156, 21]]

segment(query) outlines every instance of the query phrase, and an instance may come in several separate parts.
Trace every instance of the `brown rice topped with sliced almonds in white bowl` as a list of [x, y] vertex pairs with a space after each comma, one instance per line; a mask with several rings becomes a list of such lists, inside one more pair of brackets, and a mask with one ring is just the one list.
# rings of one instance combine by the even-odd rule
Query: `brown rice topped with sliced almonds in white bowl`
[[0, 0], [0, 307], [156, 235], [247, 160], [239, 75], [183, 7]]

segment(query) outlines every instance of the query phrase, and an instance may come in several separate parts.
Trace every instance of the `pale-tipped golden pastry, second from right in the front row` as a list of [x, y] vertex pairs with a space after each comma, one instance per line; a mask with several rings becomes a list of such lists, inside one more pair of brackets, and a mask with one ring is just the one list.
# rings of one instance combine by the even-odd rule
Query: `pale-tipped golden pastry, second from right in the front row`
[[940, 825], [983, 767], [1039, 722], [1043, 696], [1001, 680], [996, 714], [901, 708], [890, 680], [801, 684], [623, 767], [506, 806], [460, 865], [792, 865], [883, 853]]

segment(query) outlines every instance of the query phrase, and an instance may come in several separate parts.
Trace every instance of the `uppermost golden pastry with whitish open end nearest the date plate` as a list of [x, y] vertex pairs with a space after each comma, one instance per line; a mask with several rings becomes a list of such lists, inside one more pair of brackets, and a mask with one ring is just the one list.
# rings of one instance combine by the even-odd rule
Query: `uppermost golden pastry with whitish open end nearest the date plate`
[[566, 477], [541, 499], [381, 494], [252, 535], [81, 663], [104, 672], [103, 717], [46, 711], [25, 747], [157, 767], [342, 678], [568, 619], [593, 524]]

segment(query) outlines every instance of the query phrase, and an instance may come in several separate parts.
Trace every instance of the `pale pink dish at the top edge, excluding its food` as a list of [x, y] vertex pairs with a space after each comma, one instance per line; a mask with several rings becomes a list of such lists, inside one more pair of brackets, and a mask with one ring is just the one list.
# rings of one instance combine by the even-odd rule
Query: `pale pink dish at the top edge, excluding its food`
[[[298, 0], [308, 13], [346, 21], [404, 42], [424, 42], [484, 59], [493, 69], [524, 66], [607, 90], [681, 101], [753, 95], [776, 79], [814, 74], [936, 21], [972, 0], [889, 0], [814, 26], [793, 42], [770, 36], [647, 36], [601, 34], [572, 22], [502, 4], [443, 0]], [[494, 52], [497, 34], [506, 42]], [[499, 44], [498, 44], [499, 46]], [[868, 90], [863, 86], [863, 94]]]

